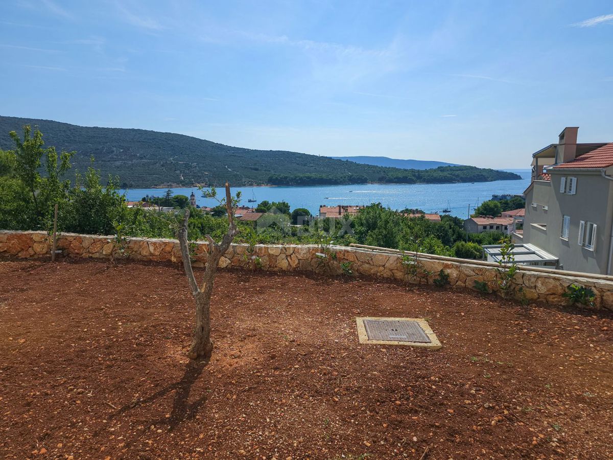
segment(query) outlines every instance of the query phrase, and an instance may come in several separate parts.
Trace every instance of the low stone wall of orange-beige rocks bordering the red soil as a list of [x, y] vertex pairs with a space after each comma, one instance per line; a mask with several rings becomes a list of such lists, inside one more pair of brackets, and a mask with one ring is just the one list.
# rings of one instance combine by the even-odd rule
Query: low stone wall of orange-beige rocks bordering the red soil
[[[116, 253], [114, 237], [64, 233], [58, 235], [58, 250], [69, 258], [111, 258]], [[0, 231], [0, 257], [23, 259], [48, 258], [51, 238], [46, 232]], [[180, 263], [181, 251], [177, 240], [130, 238], [126, 245], [126, 259]], [[194, 266], [204, 267], [207, 261], [207, 242], [198, 242], [194, 248]], [[318, 256], [319, 254], [319, 256]], [[433, 255], [419, 255], [419, 263], [432, 272], [429, 276], [415, 277], [409, 274], [402, 254], [392, 250], [332, 246], [329, 255], [321, 257], [316, 245], [256, 245], [252, 252], [244, 244], [233, 244], [220, 259], [219, 267], [252, 268], [254, 256], [259, 258], [259, 269], [267, 271], [310, 271], [338, 275], [340, 264], [351, 262], [356, 276], [367, 275], [411, 283], [433, 283], [441, 269], [449, 275], [449, 285], [474, 289], [474, 282], [487, 282], [490, 289], [497, 286], [497, 265], [482, 261], [468, 261]], [[332, 258], [331, 255], [334, 255]], [[121, 256], [116, 256], [121, 257]], [[577, 283], [590, 286], [596, 293], [596, 308], [613, 310], [613, 277], [598, 277], [560, 270], [524, 268], [516, 274], [514, 283], [522, 287], [528, 301], [541, 301], [552, 305], [566, 304], [566, 287]]]

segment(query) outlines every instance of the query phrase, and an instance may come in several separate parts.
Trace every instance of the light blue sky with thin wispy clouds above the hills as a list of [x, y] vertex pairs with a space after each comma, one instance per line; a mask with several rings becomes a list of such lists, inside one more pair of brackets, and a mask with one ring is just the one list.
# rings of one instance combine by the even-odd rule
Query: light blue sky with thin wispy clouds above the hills
[[0, 115], [496, 168], [613, 141], [610, 0], [3, 0], [0, 27]]

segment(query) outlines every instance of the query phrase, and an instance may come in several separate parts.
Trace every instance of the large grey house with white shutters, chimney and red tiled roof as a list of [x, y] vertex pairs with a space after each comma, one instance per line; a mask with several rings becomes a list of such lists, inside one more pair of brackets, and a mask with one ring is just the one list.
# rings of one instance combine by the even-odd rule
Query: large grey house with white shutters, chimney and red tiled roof
[[513, 241], [554, 255], [560, 269], [610, 275], [613, 143], [577, 144], [578, 130], [533, 154], [524, 230]]

